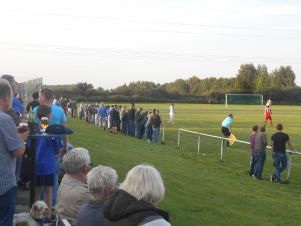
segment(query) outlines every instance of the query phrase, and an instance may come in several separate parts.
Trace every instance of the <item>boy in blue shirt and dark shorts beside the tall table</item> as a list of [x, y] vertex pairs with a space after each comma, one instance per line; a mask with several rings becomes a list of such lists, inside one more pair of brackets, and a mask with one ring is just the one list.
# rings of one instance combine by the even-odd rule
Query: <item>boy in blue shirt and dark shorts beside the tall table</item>
[[[39, 120], [47, 117], [51, 121], [51, 107], [45, 104], [37, 108]], [[30, 142], [29, 142], [30, 145]], [[42, 187], [44, 186], [44, 201], [48, 205], [49, 211], [46, 214], [45, 223], [55, 222], [56, 219], [50, 218], [52, 206], [52, 187], [54, 185], [55, 174], [55, 152], [59, 152], [63, 147], [61, 140], [43, 138], [37, 139], [37, 163], [36, 163], [36, 201], [40, 200]]]

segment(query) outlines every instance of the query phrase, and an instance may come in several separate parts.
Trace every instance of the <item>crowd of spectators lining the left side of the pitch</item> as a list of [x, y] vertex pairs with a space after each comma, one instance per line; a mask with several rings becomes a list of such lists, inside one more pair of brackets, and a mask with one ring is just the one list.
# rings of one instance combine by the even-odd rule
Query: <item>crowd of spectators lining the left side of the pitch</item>
[[[25, 162], [22, 160], [25, 160], [23, 158], [30, 152], [29, 131], [18, 133], [17, 130], [22, 114], [32, 109], [37, 124], [43, 117], [47, 117], [49, 125], [64, 126], [67, 117], [76, 116], [76, 100], [69, 99], [67, 102], [63, 97], [57, 99], [50, 88], [43, 88], [40, 92], [33, 93], [33, 101], [25, 108], [20, 97], [13, 95], [17, 84], [11, 75], [4, 75], [0, 80], [1, 226], [13, 225], [17, 183], [21, 166]], [[84, 110], [82, 118], [84, 116], [90, 118], [91, 122], [93, 119], [95, 125], [108, 128], [112, 133], [125, 132], [127, 127], [126, 133], [139, 138], [137, 134], [140, 131], [140, 124], [136, 124], [136, 119], [140, 116], [144, 122], [155, 121], [157, 125], [161, 124], [159, 110], [154, 110], [152, 114], [147, 114], [148, 112], [141, 114], [142, 108], [135, 110], [132, 104], [130, 110], [125, 112], [130, 115], [125, 121], [128, 124], [126, 126], [121, 123], [121, 106], [120, 108], [116, 105], [101, 107], [104, 107], [103, 103], [97, 107], [97, 110], [93, 107], [94, 117], [92, 114], [87, 114], [88, 110]], [[80, 110], [82, 109], [83, 103], [80, 105]], [[146, 115], [148, 118], [144, 119]], [[148, 120], [150, 115], [152, 120]], [[154, 130], [157, 134], [156, 126]], [[28, 142], [27, 146], [26, 142]], [[97, 166], [92, 169], [89, 152], [83, 148], [73, 149], [68, 143], [67, 136], [62, 141], [60, 139], [37, 140], [36, 166], [36, 200], [44, 200], [49, 207], [45, 223], [54, 223], [56, 217], [60, 217], [67, 219], [74, 226], [170, 225], [169, 213], [156, 207], [156, 204], [164, 198], [165, 188], [160, 173], [152, 166], [134, 167], [118, 188], [116, 171], [107, 166]], [[59, 179], [59, 172], [61, 179]], [[29, 171], [22, 172], [23, 175], [27, 174], [27, 177], [29, 173]], [[55, 216], [50, 215], [51, 208], [55, 209]]]

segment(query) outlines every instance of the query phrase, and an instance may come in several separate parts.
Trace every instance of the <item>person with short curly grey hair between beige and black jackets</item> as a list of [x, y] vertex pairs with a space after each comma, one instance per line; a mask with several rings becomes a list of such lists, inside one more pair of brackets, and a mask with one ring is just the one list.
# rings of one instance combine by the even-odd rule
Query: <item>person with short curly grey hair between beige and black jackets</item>
[[88, 173], [87, 184], [92, 198], [79, 208], [76, 226], [103, 225], [104, 199], [117, 187], [117, 178], [116, 171], [107, 166], [97, 166]]

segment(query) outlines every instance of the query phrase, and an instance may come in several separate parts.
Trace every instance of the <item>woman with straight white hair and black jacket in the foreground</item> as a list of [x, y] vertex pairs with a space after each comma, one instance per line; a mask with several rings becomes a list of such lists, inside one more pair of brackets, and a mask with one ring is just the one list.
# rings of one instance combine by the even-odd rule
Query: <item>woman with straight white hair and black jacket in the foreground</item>
[[164, 184], [149, 165], [132, 168], [125, 180], [107, 197], [103, 206], [105, 226], [170, 226], [169, 213], [155, 205], [164, 198]]

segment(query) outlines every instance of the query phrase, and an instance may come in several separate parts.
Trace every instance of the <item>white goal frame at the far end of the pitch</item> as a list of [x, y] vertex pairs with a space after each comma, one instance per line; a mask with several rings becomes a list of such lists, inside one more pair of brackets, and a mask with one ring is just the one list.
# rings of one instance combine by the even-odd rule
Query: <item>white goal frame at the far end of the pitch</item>
[[225, 104], [261, 105], [263, 107], [262, 94], [225, 94]]

